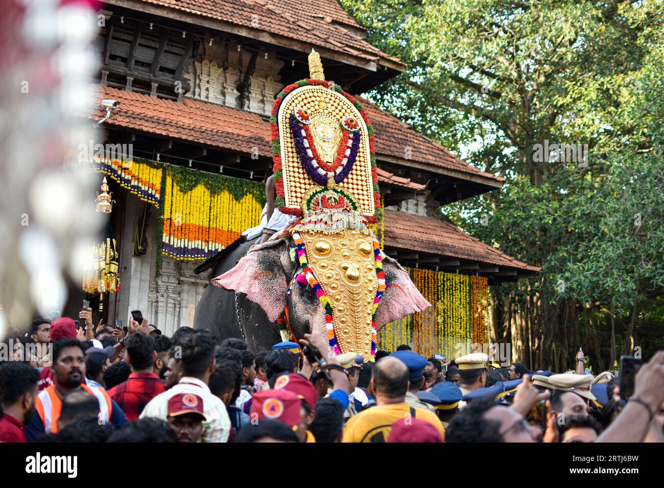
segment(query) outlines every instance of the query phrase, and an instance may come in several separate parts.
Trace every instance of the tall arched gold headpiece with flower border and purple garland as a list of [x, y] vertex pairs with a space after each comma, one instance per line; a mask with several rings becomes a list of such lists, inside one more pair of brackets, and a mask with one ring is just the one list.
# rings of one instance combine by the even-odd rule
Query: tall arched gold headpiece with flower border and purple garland
[[[341, 199], [367, 222], [376, 222], [380, 193], [373, 127], [353, 96], [325, 80], [314, 50], [309, 75], [286, 86], [272, 107], [277, 206], [286, 214], [306, 216], [311, 205], [330, 200], [338, 205]], [[328, 191], [312, 198], [321, 190]]]

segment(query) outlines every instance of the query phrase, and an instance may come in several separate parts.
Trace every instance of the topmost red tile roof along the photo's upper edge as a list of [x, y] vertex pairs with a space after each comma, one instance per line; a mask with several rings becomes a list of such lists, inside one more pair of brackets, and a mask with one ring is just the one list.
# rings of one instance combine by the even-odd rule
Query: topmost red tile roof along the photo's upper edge
[[[218, 19], [250, 29], [307, 42], [314, 46], [346, 52], [378, 62], [388, 59], [404, 66], [394, 56], [375, 48], [369, 42], [351, 35], [346, 29], [326, 22], [322, 17], [357, 26], [335, 0], [141, 0], [180, 11]], [[288, 20], [297, 17], [298, 22]], [[258, 16], [258, 17], [256, 17]], [[258, 20], [258, 24], [256, 23]], [[338, 45], [335, 45], [338, 44]]]

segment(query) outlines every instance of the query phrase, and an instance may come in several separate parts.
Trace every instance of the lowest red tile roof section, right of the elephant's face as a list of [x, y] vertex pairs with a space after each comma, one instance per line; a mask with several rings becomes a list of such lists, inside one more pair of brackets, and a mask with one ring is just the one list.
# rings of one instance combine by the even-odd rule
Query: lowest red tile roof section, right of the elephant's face
[[385, 246], [428, 252], [504, 266], [522, 271], [540, 272], [541, 268], [507, 256], [507, 254], [469, 236], [451, 222], [385, 210]]

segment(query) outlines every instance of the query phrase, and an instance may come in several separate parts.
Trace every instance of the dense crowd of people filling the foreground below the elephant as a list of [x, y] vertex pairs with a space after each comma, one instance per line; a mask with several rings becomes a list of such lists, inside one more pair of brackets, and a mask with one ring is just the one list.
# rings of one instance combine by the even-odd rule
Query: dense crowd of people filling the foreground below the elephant
[[[321, 335], [248, 351], [143, 319], [63, 317], [0, 361], [0, 442], [662, 442], [664, 351], [622, 398], [613, 372], [554, 374], [484, 353], [329, 355]], [[40, 352], [41, 351], [41, 352]], [[579, 361], [580, 360], [580, 361]], [[507, 366], [507, 365], [505, 365]], [[625, 401], [626, 400], [626, 401]]]

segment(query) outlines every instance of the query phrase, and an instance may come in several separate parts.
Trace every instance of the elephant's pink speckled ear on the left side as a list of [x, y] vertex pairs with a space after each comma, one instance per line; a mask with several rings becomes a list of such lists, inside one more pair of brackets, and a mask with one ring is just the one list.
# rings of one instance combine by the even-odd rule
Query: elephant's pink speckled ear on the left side
[[244, 293], [274, 322], [286, 308], [288, 278], [295, 271], [288, 249], [289, 240], [276, 239], [259, 244], [238, 261], [234, 268], [210, 283]]

